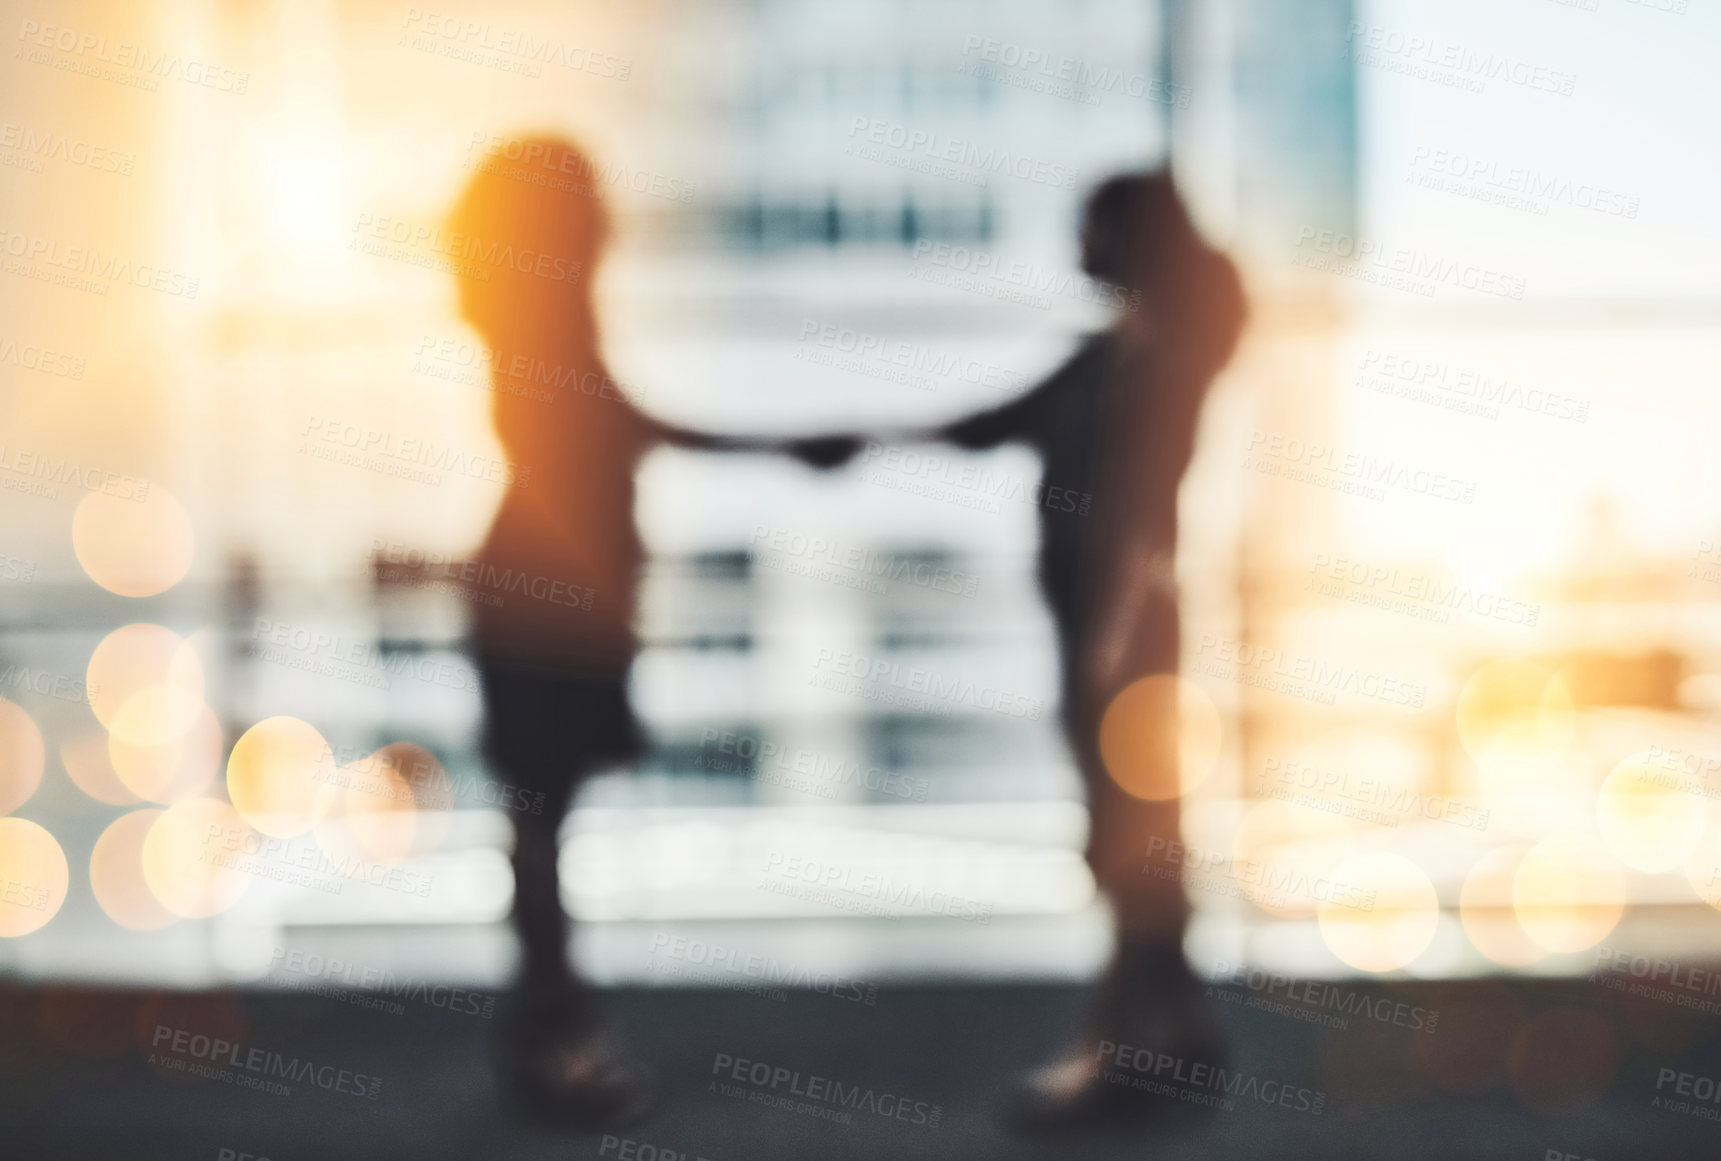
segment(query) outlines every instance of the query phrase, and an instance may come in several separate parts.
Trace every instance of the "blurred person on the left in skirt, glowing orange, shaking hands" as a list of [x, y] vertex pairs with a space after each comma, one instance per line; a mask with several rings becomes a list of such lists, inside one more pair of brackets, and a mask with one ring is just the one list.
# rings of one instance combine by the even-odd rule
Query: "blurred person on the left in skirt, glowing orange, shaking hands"
[[[566, 141], [525, 146], [544, 174], [594, 172]], [[766, 445], [671, 428], [623, 397], [599, 354], [592, 311], [604, 206], [590, 189], [554, 189], [511, 175], [518, 172], [535, 170], [473, 177], [444, 239], [461, 263], [461, 313], [494, 353], [496, 433], [525, 473], [523, 487], [506, 488], [478, 552], [472, 630], [484, 753], [494, 776], [534, 803], [509, 812], [523, 963], [504, 1066], [540, 1111], [618, 1125], [644, 1111], [645, 1085], [606, 1037], [595, 991], [568, 963], [556, 836], [578, 784], [644, 748], [626, 697], [642, 561], [633, 473], [664, 440]], [[819, 463], [821, 447], [804, 440], [786, 449]]]

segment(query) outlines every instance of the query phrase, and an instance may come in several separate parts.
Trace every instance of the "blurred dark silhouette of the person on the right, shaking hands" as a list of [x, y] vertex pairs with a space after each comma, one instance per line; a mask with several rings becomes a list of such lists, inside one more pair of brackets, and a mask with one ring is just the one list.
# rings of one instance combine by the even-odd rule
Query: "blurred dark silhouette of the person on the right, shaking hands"
[[[1117, 953], [1081, 1041], [1014, 1104], [1024, 1128], [1165, 1106], [1100, 1078], [1101, 1041], [1191, 1063], [1217, 1063], [1222, 1047], [1182, 955], [1182, 886], [1143, 874], [1150, 839], [1177, 839], [1177, 798], [1126, 793], [1101, 760], [1100, 721], [1127, 685], [1179, 667], [1177, 488], [1203, 397], [1243, 329], [1243, 287], [1163, 172], [1112, 177], [1089, 196], [1083, 270], [1131, 303], [1115, 325], [1024, 396], [936, 432], [967, 449], [1027, 444], [1046, 488], [1091, 497], [1086, 516], [1039, 506], [1039, 581], [1058, 631], [1064, 728], [1088, 786], [1088, 863], [1115, 913]], [[1175, 721], [1162, 726], [1170, 736], [1150, 748], [1174, 765]], [[1175, 786], [1177, 771], [1157, 777]]]

